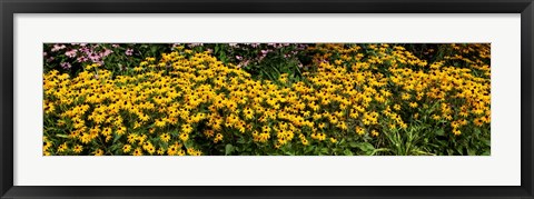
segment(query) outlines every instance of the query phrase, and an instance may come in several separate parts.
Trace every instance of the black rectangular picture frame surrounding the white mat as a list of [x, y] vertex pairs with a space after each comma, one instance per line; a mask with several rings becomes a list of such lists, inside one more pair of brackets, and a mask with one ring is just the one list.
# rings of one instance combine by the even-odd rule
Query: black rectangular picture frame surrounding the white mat
[[[1, 198], [534, 198], [532, 0], [0, 0]], [[13, 186], [14, 13], [521, 13], [521, 186], [26, 187]], [[495, 171], [498, 172], [498, 171]]]

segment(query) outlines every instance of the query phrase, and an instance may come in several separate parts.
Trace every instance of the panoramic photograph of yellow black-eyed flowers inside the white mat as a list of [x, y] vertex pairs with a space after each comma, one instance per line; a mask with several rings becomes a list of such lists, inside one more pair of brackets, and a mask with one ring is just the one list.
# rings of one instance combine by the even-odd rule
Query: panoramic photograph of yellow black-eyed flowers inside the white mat
[[43, 156], [491, 156], [491, 43], [43, 43]]

